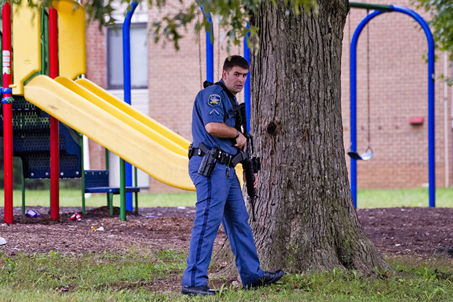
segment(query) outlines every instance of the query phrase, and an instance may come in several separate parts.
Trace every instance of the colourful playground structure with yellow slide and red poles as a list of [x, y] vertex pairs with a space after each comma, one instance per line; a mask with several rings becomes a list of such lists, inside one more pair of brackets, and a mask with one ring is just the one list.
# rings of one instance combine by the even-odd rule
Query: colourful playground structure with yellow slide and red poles
[[[84, 177], [86, 173], [83, 171], [82, 151], [80, 151], [83, 150], [83, 147], [75, 148], [78, 149], [75, 152], [78, 153], [77, 164], [74, 165], [76, 171], [72, 171], [72, 175], [61, 171], [59, 144], [61, 136], [58, 133], [58, 121], [65, 123], [70, 132], [69, 135], [66, 135], [67, 131], [62, 131], [65, 133], [65, 138], [78, 137], [79, 134], [84, 134], [155, 179], [176, 188], [194, 190], [187, 173], [189, 141], [152, 118], [141, 114], [128, 104], [130, 103], [130, 66], [126, 66], [128, 64], [126, 57], [124, 60], [124, 86], [125, 99], [128, 100], [128, 103], [117, 99], [88, 79], [79, 78], [74, 81], [86, 71], [84, 10], [80, 3], [73, 0], [55, 1], [52, 5], [54, 8], [48, 9], [49, 47], [46, 45], [46, 39], [41, 38], [41, 36], [46, 37], [43, 29], [45, 28], [43, 24], [45, 20], [41, 18], [41, 16], [46, 16], [46, 9], [32, 9], [26, 1], [22, 1], [19, 5], [13, 4], [14, 13], [11, 21], [8, 18], [11, 14], [10, 4], [6, 3], [3, 6], [3, 54], [5, 54], [5, 51], [9, 51], [9, 54], [11, 54], [11, 40], [8, 40], [8, 38], [11, 38], [11, 23], [14, 32], [21, 33], [21, 36], [17, 34], [12, 36], [14, 69], [5, 72], [5, 68], [3, 68], [5, 222], [13, 222], [12, 155], [13, 153], [18, 154], [16, 150], [13, 150], [12, 143], [12, 103], [16, 105], [15, 99], [20, 98], [20, 96], [23, 96], [23, 103], [27, 104], [28, 101], [36, 106], [36, 108], [32, 106], [34, 109], [30, 111], [38, 112], [38, 114], [45, 112], [44, 115], [50, 115], [51, 147], [50, 156], [46, 158], [50, 164], [50, 173], [33, 173], [33, 176], [36, 178], [48, 178], [50, 176], [51, 218], [58, 219], [58, 181], [60, 177], [82, 178], [82, 196], [84, 192], [107, 192], [111, 210], [111, 194], [117, 193], [116, 189], [112, 190], [113, 188], [106, 187], [106, 184], [108, 184], [108, 179], [107, 182], [105, 179], [106, 174], [99, 173], [99, 171], [92, 174], [102, 175], [100, 177], [102, 179], [93, 181], [93, 177], [91, 177], [85, 188]], [[135, 7], [136, 3], [134, 2], [132, 3], [132, 10], [128, 12], [129, 16], [132, 15]], [[32, 18], [32, 16], [39, 16], [39, 18]], [[128, 29], [126, 23], [125, 25]], [[126, 45], [128, 38], [127, 35], [125, 37]], [[211, 37], [207, 33], [207, 78], [213, 81], [213, 45], [210, 40]], [[129, 47], [127, 45], [124, 49], [129, 49]], [[44, 54], [47, 49], [48, 58]], [[3, 65], [5, 65], [5, 62], [9, 62], [9, 58], [3, 55]], [[47, 72], [45, 68], [42, 68], [46, 64], [49, 66]], [[127, 83], [128, 79], [129, 84]], [[129, 92], [126, 90], [129, 90]], [[61, 128], [65, 130], [65, 127]], [[78, 131], [79, 134], [76, 134], [74, 130]], [[41, 143], [46, 144], [46, 142]], [[75, 142], [75, 144], [77, 145], [78, 142]], [[14, 144], [14, 148], [15, 146], [16, 144]], [[66, 151], [66, 149], [63, 149], [63, 151]], [[46, 164], [41, 163], [41, 168], [43, 166], [46, 166]], [[125, 165], [121, 163], [121, 166]], [[44, 170], [46, 168], [48, 167], [45, 167]], [[125, 169], [122, 168], [122, 170]], [[24, 177], [30, 178], [31, 173], [25, 175], [25, 170], [23, 172]], [[125, 177], [124, 173], [121, 174], [121, 179], [132, 178], [130, 175]], [[97, 188], [93, 188], [94, 183], [97, 183]], [[126, 181], [123, 180], [119, 192], [121, 193], [120, 216], [121, 220], [126, 220], [126, 192], [137, 192], [137, 188], [126, 187]], [[23, 209], [24, 206], [23, 204]], [[84, 197], [82, 197], [82, 212], [84, 212]]]

